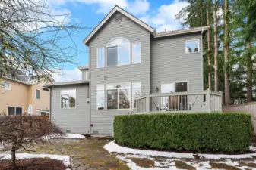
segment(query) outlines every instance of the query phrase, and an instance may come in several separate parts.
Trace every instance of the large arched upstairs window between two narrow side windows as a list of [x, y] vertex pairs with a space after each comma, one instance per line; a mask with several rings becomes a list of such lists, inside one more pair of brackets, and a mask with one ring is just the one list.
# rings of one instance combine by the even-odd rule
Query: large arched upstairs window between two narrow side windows
[[106, 46], [107, 66], [120, 66], [131, 63], [130, 42], [127, 39], [114, 39]]

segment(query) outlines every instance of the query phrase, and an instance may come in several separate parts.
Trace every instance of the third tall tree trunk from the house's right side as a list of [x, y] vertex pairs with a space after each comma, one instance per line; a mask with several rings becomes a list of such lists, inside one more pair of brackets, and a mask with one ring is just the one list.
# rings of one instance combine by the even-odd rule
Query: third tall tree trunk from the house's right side
[[224, 84], [225, 84], [225, 105], [230, 104], [229, 94], [229, 1], [224, 2]]

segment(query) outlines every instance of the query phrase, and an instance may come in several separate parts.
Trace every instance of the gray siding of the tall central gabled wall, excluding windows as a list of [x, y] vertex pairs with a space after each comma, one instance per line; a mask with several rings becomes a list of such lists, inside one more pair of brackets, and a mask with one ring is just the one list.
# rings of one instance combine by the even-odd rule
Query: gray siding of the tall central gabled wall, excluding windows
[[[115, 14], [113, 15], [115, 17]], [[105, 48], [115, 38], [122, 37], [132, 43], [141, 42], [141, 63], [125, 66], [97, 68], [97, 48]], [[128, 17], [122, 16], [121, 22], [109, 19], [96, 36], [90, 41], [90, 110], [91, 133], [112, 135], [115, 115], [127, 114], [131, 110], [96, 110], [96, 85], [121, 82], [141, 82], [141, 93], [150, 93], [150, 32]], [[105, 57], [106, 59], [106, 57]], [[106, 61], [106, 60], [105, 60]], [[107, 80], [104, 77], [107, 76]], [[106, 94], [105, 94], [106, 97]], [[106, 104], [106, 103], [105, 103]]]

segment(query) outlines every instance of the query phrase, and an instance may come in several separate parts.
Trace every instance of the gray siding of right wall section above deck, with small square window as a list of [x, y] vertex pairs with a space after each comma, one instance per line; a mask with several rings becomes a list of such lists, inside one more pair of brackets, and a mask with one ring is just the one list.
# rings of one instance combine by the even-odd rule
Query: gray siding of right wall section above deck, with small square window
[[[199, 39], [200, 51], [185, 54], [185, 40]], [[201, 32], [153, 39], [151, 42], [151, 92], [161, 84], [188, 81], [188, 91], [203, 90]]]

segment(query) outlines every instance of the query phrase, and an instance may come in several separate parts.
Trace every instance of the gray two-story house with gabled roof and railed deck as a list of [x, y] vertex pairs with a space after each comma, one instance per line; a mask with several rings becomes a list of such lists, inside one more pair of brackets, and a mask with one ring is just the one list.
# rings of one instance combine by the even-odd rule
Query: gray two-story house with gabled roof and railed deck
[[49, 86], [51, 119], [71, 133], [112, 135], [115, 115], [221, 111], [221, 94], [203, 89], [208, 29], [156, 33], [115, 6], [84, 39], [83, 80]]

